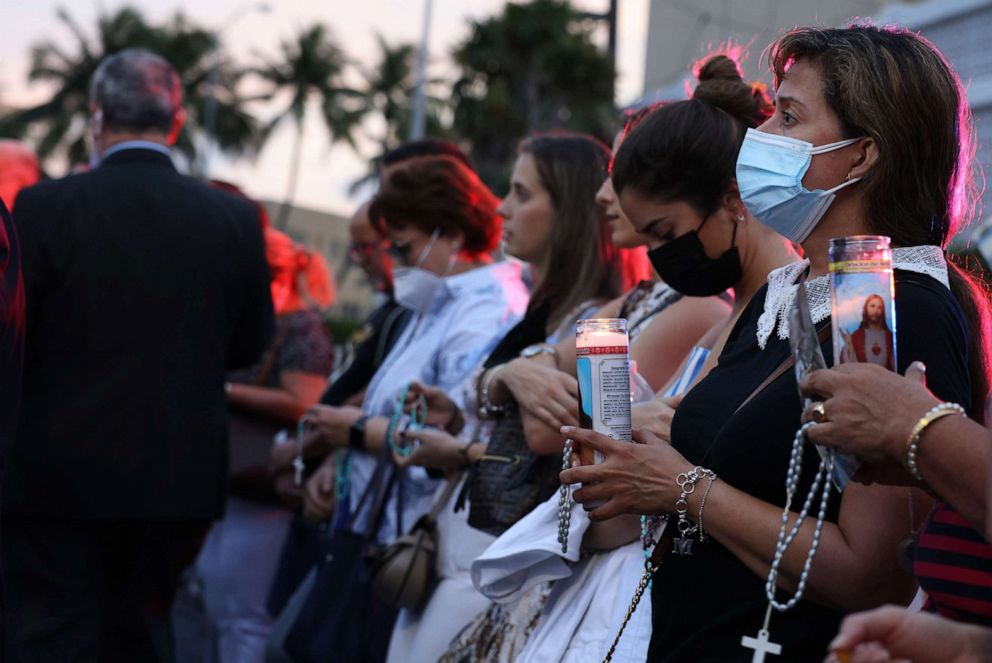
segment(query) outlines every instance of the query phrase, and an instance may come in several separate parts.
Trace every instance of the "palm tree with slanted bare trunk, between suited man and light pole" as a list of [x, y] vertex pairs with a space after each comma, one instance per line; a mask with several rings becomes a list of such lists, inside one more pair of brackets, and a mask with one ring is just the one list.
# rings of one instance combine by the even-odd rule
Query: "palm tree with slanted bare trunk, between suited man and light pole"
[[304, 28], [293, 39], [283, 41], [281, 50], [280, 59], [269, 60], [256, 73], [271, 86], [271, 96], [289, 95], [289, 103], [268, 124], [264, 135], [270, 136], [286, 121], [292, 121], [296, 129], [286, 197], [276, 220], [278, 227], [285, 228], [296, 197], [307, 108], [313, 102], [320, 104], [331, 145], [344, 141], [356, 148], [354, 132], [366, 107], [362, 93], [344, 84], [349, 62], [325, 26], [318, 23]]

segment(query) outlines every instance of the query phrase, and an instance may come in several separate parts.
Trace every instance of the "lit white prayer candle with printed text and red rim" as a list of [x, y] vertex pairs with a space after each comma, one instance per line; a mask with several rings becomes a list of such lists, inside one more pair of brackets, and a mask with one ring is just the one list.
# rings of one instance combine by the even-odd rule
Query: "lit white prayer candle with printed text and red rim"
[[[630, 341], [623, 318], [579, 320], [575, 330], [579, 425], [614, 440], [630, 441]], [[583, 465], [603, 462], [602, 452], [576, 445]], [[586, 510], [598, 504], [586, 503]]]

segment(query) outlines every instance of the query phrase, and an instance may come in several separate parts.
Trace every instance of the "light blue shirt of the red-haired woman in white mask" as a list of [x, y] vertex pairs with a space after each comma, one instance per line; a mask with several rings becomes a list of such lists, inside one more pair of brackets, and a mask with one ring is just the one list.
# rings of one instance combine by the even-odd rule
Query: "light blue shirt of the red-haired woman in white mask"
[[[369, 416], [392, 416], [403, 385], [410, 380], [439, 387], [459, 406], [459, 388], [480, 359], [520, 320], [529, 294], [520, 278], [520, 266], [501, 262], [449, 276], [430, 312], [415, 315], [369, 383], [362, 409]], [[351, 452], [349, 504], [353, 509], [365, 490], [377, 457]], [[426, 513], [438, 481], [422, 468], [412, 467], [404, 484], [403, 527], [409, 528]], [[378, 540], [396, 538], [395, 491], [386, 505]], [[365, 531], [367, 509], [358, 514], [355, 531]]]

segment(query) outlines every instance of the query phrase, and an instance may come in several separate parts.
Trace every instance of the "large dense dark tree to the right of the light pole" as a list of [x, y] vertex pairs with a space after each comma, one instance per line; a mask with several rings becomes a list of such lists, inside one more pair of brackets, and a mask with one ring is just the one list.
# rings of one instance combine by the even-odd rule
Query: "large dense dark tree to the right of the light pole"
[[494, 191], [509, 181], [517, 141], [564, 128], [609, 140], [615, 123], [613, 59], [592, 25], [564, 0], [508, 2], [472, 24], [453, 53], [453, 126], [472, 144], [479, 175]]

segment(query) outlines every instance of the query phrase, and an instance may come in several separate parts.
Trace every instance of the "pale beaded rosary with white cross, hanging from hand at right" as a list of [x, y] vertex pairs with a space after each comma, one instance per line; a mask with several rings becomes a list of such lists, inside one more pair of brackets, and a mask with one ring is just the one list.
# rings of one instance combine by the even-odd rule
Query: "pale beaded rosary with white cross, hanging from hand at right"
[[[823, 458], [820, 460], [820, 467], [817, 469], [816, 477], [813, 480], [813, 485], [810, 486], [809, 494], [806, 496], [806, 501], [803, 503], [803, 508], [799, 512], [799, 518], [796, 519], [795, 524], [793, 524], [792, 529], [789, 529], [789, 508], [792, 506], [792, 500], [795, 497], [796, 489], [799, 485], [799, 475], [802, 471], [803, 464], [803, 449], [806, 446], [806, 434], [810, 426], [815, 425], [815, 422], [808, 422], [799, 429], [796, 433], [796, 438], [792, 443], [792, 455], [789, 458], [789, 471], [785, 478], [785, 508], [782, 509], [782, 525], [779, 528], [778, 540], [775, 544], [775, 556], [772, 559], [771, 569], [768, 571], [768, 580], [765, 582], [765, 594], [768, 596], [768, 609], [765, 611], [765, 621], [761, 630], [758, 631], [758, 637], [752, 638], [744, 636], [741, 638], [741, 646], [747, 649], [754, 650], [754, 656], [751, 658], [751, 663], [764, 663], [765, 654], [781, 654], [782, 645], [771, 642], [768, 632], [768, 623], [771, 620], [772, 608], [778, 610], [779, 612], [785, 612], [792, 609], [795, 605], [802, 599], [803, 592], [806, 590], [806, 581], [809, 578], [809, 570], [813, 565], [813, 557], [816, 555], [816, 550], [820, 546], [820, 533], [823, 530], [823, 522], [827, 515], [827, 504], [830, 500], [830, 475], [834, 467], [834, 451], [827, 450], [823, 454]], [[813, 540], [810, 542], [809, 552], [806, 553], [806, 561], [803, 564], [802, 573], [799, 576], [799, 583], [796, 586], [795, 595], [790, 598], [785, 603], [779, 603], [775, 600], [775, 581], [778, 579], [778, 570], [782, 564], [782, 558], [785, 557], [785, 552], [789, 549], [795, 541], [796, 536], [799, 534], [799, 529], [802, 527], [803, 522], [809, 515], [810, 509], [813, 506], [813, 501], [816, 499], [817, 493], [822, 489], [822, 494], [820, 495], [820, 510], [816, 516], [816, 527], [813, 530]], [[788, 530], [788, 532], [786, 532]]]

